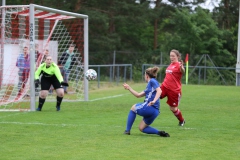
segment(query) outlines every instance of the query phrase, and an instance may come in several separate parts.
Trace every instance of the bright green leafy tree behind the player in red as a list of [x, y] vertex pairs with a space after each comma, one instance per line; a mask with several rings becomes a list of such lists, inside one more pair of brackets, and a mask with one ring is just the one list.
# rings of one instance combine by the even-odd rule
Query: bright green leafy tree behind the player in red
[[165, 19], [162, 30], [165, 31], [165, 36], [161, 39], [164, 51], [176, 48], [182, 53], [231, 57], [230, 52], [224, 48], [225, 32], [218, 29], [207, 10], [197, 8], [190, 13], [186, 9], [177, 9], [171, 18]]

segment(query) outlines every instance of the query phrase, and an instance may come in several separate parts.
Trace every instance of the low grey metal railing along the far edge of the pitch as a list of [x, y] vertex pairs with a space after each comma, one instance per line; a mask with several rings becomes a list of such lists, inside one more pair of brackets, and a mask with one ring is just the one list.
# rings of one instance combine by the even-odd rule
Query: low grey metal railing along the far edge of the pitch
[[[161, 71], [158, 74], [158, 81], [163, 82], [165, 69], [168, 65], [143, 64], [142, 81], [144, 81], [144, 72], [147, 68], [158, 66]], [[100, 88], [101, 82], [116, 83], [133, 80], [132, 64], [109, 64], [109, 65], [89, 65], [89, 68], [95, 69], [98, 73], [97, 87]], [[235, 85], [236, 68], [233, 67], [208, 67], [208, 66], [189, 66], [189, 84], [211, 84], [211, 85]], [[231, 72], [232, 76], [226, 77]], [[227, 74], [226, 74], [227, 73]], [[186, 77], [183, 76], [182, 83], [185, 84]]]

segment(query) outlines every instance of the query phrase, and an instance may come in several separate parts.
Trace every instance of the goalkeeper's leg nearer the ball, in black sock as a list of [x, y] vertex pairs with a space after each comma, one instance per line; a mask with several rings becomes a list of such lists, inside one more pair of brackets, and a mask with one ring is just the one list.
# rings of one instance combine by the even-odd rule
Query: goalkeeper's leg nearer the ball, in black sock
[[56, 77], [55, 77], [55, 79], [53, 80], [52, 85], [53, 85], [53, 87], [55, 88], [56, 93], [57, 93], [57, 97], [56, 97], [56, 100], [57, 100], [56, 110], [57, 110], [57, 111], [60, 111], [62, 99], [63, 99], [63, 96], [64, 96], [64, 90], [63, 90], [63, 88], [62, 88], [62, 85], [60, 84], [60, 82], [57, 80]]

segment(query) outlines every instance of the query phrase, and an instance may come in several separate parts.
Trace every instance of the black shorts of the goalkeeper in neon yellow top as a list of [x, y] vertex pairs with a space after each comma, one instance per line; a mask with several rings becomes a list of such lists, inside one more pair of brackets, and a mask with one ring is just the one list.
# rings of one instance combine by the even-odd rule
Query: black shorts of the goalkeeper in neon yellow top
[[41, 90], [49, 90], [51, 85], [53, 85], [54, 89], [63, 88], [55, 75], [53, 75], [52, 77], [42, 76]]

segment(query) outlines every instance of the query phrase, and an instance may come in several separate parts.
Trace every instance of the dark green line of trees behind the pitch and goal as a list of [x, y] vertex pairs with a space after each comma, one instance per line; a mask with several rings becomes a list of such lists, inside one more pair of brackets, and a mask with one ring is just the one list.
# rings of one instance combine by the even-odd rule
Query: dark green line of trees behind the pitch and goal
[[221, 0], [213, 11], [199, 6], [206, 0], [168, 1], [156, 0], [155, 8], [147, 0], [7, 0], [6, 5], [34, 3], [88, 15], [90, 64], [111, 64], [118, 51], [116, 63], [140, 70], [144, 63], [168, 64], [160, 53], [177, 49], [183, 58], [190, 54], [190, 65], [207, 54], [217, 66], [235, 67], [239, 1]]

